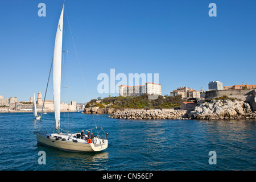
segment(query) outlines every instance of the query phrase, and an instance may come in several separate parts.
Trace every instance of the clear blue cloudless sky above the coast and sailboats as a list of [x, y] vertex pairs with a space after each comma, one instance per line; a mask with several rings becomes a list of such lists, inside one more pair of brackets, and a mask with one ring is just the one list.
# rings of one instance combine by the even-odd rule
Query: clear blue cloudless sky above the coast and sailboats
[[[28, 101], [46, 90], [61, 3], [0, 2], [0, 95]], [[217, 16], [210, 17], [209, 3]], [[46, 16], [38, 16], [39, 3]], [[208, 89], [256, 84], [256, 1], [97, 0], [65, 1], [68, 50], [64, 60], [61, 101], [87, 102], [100, 94], [100, 73], [159, 73], [162, 95], [180, 86]], [[84, 76], [84, 80], [82, 79]], [[119, 81], [115, 81], [117, 84]], [[85, 83], [85, 84], [84, 84]], [[118, 96], [118, 93], [111, 94]], [[52, 79], [46, 100], [52, 98]]]

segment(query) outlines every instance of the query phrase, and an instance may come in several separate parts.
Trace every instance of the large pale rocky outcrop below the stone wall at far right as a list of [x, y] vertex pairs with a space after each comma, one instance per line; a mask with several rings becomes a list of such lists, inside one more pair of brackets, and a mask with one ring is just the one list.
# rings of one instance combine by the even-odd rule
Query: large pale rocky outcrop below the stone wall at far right
[[255, 119], [247, 102], [239, 100], [210, 100], [197, 104], [188, 114], [191, 119]]

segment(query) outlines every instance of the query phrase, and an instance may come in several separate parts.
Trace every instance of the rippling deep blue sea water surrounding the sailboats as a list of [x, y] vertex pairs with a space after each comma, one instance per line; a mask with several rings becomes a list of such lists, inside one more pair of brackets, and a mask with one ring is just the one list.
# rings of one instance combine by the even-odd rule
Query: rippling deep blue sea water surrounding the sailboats
[[[101, 152], [79, 153], [38, 144], [34, 132], [38, 131], [39, 121], [32, 113], [0, 113], [0, 169], [256, 170], [255, 120], [127, 120], [61, 113], [61, 128], [77, 133], [95, 127], [94, 120], [97, 127], [109, 133], [109, 146]], [[54, 127], [54, 114], [43, 114], [40, 131], [53, 132]], [[100, 135], [105, 133], [101, 131]], [[39, 164], [39, 151], [45, 152], [46, 164]]]

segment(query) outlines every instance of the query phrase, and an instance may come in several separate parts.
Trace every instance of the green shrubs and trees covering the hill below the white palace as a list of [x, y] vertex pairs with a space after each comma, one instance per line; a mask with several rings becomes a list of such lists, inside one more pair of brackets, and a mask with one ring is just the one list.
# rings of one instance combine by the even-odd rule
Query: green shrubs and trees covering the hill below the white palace
[[[97, 103], [97, 102], [100, 103]], [[147, 94], [134, 97], [106, 97], [101, 100], [93, 99], [85, 107], [100, 108], [144, 108], [144, 109], [164, 109], [180, 107], [184, 102], [181, 96], [159, 96], [156, 100], [148, 100]]]

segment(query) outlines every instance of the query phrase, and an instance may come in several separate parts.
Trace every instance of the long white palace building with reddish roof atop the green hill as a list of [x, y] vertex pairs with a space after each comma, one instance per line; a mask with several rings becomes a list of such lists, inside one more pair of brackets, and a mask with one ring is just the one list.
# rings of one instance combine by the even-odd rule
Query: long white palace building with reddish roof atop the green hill
[[151, 82], [146, 82], [145, 85], [138, 86], [119, 85], [119, 96], [141, 96], [144, 93], [148, 95], [161, 95], [162, 85]]

